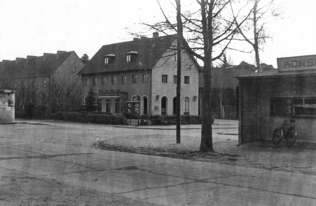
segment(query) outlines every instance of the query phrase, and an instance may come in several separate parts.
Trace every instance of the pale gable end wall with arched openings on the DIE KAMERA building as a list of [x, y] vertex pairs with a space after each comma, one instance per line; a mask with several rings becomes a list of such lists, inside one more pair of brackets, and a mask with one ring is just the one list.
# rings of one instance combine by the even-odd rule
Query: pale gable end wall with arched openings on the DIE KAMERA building
[[[173, 114], [173, 97], [176, 97], [176, 86], [173, 75], [177, 75], [177, 62], [167, 51], [152, 69], [152, 114], [161, 115], [161, 99], [167, 97], [167, 115]], [[162, 75], [168, 75], [167, 83], [162, 83]], [[184, 84], [184, 76], [190, 76], [190, 84]], [[157, 100], [157, 95], [159, 98]], [[181, 115], [184, 114], [184, 99], [189, 97], [190, 115], [198, 115], [198, 68], [186, 51], [182, 52], [181, 64]]]

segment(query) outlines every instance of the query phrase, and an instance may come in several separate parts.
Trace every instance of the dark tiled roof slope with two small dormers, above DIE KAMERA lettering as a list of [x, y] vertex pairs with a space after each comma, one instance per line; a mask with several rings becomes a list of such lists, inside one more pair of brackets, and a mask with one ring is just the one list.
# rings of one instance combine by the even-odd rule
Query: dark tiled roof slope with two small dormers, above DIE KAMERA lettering
[[[174, 36], [171, 35], [104, 45], [78, 74], [152, 69], [174, 40]], [[126, 62], [125, 55], [131, 51], [137, 52], [134, 54], [135, 59]], [[115, 54], [115, 58], [112, 62], [104, 64], [104, 56], [108, 54]]]

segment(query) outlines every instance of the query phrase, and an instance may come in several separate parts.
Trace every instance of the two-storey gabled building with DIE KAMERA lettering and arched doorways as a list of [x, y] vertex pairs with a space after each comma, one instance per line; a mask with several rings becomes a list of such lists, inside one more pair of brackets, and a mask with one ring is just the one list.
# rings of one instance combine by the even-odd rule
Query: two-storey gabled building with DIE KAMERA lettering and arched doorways
[[[177, 61], [174, 35], [134, 38], [102, 46], [79, 71], [82, 100], [92, 89], [101, 111], [121, 113], [127, 101], [139, 101], [140, 114], [175, 114]], [[181, 113], [198, 114], [200, 66], [182, 51]]]

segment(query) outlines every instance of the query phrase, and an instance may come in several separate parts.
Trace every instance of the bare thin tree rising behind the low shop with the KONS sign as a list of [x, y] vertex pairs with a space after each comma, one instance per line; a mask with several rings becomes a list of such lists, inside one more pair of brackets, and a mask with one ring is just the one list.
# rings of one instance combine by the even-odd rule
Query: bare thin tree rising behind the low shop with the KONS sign
[[[266, 40], [271, 38], [267, 33], [266, 24], [272, 20], [281, 19], [283, 12], [280, 10], [280, 5], [275, 3], [275, 0], [246, 0], [246, 2], [248, 5], [252, 5], [251, 16], [247, 17], [242, 26], [239, 26], [237, 18], [235, 24], [238, 26], [238, 31], [243, 40], [253, 48], [257, 70], [262, 71], [259, 50], [262, 50]], [[234, 13], [233, 9], [232, 12]]]

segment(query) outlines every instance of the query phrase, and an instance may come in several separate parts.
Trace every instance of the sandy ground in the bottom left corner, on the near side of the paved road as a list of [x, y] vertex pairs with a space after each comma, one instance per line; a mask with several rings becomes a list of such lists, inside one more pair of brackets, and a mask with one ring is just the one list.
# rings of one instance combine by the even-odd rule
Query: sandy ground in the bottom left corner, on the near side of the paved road
[[22, 172], [1, 170], [0, 205], [154, 205]]

